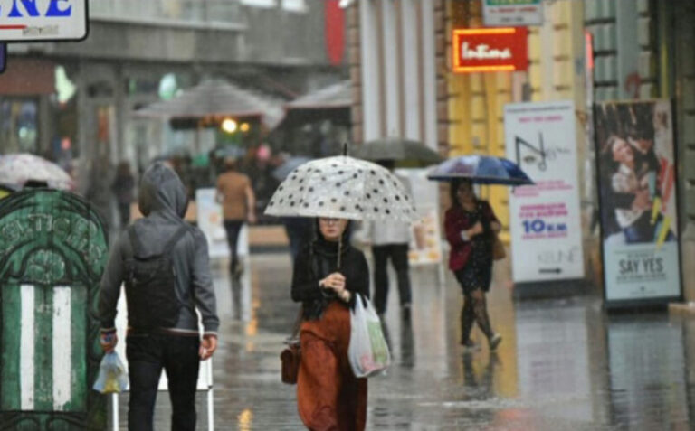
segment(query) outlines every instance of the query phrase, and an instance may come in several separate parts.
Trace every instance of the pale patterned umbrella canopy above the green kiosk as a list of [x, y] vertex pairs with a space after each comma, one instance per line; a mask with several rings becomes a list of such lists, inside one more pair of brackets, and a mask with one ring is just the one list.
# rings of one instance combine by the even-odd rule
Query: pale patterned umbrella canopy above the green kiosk
[[0, 156], [0, 184], [21, 188], [27, 182], [46, 183], [59, 190], [71, 190], [74, 184], [62, 167], [38, 155]]

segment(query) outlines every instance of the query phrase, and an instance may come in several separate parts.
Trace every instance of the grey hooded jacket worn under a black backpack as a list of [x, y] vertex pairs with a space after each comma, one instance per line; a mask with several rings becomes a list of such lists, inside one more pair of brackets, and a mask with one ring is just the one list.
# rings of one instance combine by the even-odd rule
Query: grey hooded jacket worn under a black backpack
[[[162, 253], [168, 239], [186, 223], [186, 191], [178, 175], [166, 164], [153, 164], [140, 182], [138, 206], [145, 218], [135, 221], [138, 257]], [[203, 232], [191, 226], [171, 251], [176, 271], [176, 291], [183, 304], [195, 304], [203, 318], [205, 333], [217, 333], [214, 286], [210, 274], [207, 241]], [[112, 244], [109, 264], [101, 278], [99, 315], [101, 331], [115, 327], [116, 305], [124, 281], [124, 260], [133, 255], [127, 231]], [[178, 323], [167, 333], [198, 334], [198, 320], [191, 307], [182, 307]]]

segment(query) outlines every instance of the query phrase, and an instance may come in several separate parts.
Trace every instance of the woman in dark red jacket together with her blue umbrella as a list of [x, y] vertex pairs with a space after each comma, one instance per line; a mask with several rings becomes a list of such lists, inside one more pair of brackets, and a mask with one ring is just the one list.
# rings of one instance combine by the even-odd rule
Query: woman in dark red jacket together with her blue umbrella
[[502, 341], [492, 331], [485, 294], [492, 281], [493, 245], [500, 221], [487, 201], [475, 195], [473, 182], [483, 184], [532, 184], [518, 165], [492, 156], [468, 155], [437, 165], [427, 178], [451, 182], [452, 206], [444, 216], [446, 239], [451, 245], [449, 268], [462, 287], [461, 343], [467, 351], [477, 348], [471, 341], [473, 323], [488, 338], [490, 351]]

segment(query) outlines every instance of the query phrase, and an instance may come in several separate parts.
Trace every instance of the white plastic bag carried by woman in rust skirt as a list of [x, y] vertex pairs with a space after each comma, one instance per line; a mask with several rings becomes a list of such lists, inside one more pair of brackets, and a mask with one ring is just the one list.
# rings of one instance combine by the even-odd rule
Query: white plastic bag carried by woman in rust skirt
[[381, 321], [369, 300], [362, 295], [355, 299], [350, 312], [350, 345], [348, 356], [356, 377], [372, 377], [391, 364], [391, 354], [381, 328]]

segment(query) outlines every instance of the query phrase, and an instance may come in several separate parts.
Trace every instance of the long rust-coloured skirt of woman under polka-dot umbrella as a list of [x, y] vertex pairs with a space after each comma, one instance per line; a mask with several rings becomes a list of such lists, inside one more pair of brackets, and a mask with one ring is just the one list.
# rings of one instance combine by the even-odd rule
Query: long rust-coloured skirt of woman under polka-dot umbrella
[[319, 320], [301, 323], [297, 404], [312, 431], [362, 431], [367, 422], [367, 379], [350, 368], [350, 312], [334, 301]]

